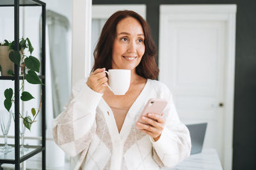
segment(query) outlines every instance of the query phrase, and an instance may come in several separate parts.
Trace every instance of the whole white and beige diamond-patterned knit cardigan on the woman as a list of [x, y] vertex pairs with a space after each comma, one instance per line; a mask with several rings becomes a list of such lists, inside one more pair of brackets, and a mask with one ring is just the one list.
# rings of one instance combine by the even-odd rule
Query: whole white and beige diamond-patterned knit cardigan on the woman
[[[136, 128], [150, 98], [168, 100], [165, 127], [157, 141]], [[102, 94], [86, 85], [86, 79], [72, 88], [52, 130], [54, 141], [71, 157], [71, 169], [156, 170], [176, 166], [191, 150], [189, 131], [179, 120], [170, 90], [150, 79], [129, 109], [120, 133], [113, 111]]]

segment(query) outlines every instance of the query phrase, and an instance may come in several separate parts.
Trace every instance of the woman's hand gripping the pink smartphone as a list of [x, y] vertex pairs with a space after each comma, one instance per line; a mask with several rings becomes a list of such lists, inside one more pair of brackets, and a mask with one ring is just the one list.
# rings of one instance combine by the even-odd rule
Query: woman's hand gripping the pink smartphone
[[[146, 124], [143, 124], [142, 122], [146, 122]], [[160, 138], [165, 125], [163, 113], [161, 115], [157, 113], [148, 113], [147, 117], [141, 115], [136, 125], [141, 132], [145, 132], [157, 141]]]

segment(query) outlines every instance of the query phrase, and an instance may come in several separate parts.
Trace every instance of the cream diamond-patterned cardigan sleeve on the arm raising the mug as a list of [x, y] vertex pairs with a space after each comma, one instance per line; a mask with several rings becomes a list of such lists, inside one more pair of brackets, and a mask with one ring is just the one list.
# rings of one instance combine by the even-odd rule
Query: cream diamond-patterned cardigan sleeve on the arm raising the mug
[[96, 131], [95, 114], [102, 94], [97, 93], [81, 80], [74, 88], [65, 110], [53, 121], [54, 141], [70, 157], [84, 150]]

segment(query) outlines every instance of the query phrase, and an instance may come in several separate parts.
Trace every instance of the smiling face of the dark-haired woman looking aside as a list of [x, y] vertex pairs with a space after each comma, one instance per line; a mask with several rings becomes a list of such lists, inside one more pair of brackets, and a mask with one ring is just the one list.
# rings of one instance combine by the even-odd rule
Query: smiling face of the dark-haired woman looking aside
[[116, 38], [112, 50], [112, 69], [134, 70], [145, 52], [144, 33], [140, 22], [132, 17], [116, 25]]

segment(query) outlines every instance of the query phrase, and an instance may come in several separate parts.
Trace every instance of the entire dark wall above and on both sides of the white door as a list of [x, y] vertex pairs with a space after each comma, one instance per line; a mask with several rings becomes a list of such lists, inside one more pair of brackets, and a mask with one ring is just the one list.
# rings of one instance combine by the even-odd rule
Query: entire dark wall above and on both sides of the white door
[[147, 4], [147, 21], [157, 46], [159, 4], [237, 4], [233, 170], [255, 170], [256, 0], [93, 0], [92, 3]]

